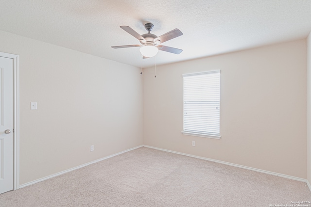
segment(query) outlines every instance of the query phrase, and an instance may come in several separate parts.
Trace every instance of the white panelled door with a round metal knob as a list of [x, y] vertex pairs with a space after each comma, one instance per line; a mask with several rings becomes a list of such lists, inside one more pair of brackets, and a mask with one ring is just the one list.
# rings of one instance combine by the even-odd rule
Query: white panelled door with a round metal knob
[[0, 193], [13, 190], [13, 59], [0, 57]]

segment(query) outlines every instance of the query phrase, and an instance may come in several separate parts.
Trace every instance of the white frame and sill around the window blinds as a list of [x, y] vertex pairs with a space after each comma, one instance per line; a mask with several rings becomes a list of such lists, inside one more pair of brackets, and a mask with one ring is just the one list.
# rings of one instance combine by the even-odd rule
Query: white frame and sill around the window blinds
[[204, 133], [204, 132], [198, 132], [198, 131], [187, 131], [185, 130], [185, 77], [190, 77], [190, 76], [200, 76], [200, 75], [206, 75], [206, 74], [212, 74], [212, 73], [219, 73], [219, 107], [220, 107], [220, 70], [211, 70], [211, 71], [204, 71], [204, 72], [197, 72], [197, 73], [188, 73], [188, 74], [183, 74], [183, 131], [181, 133], [183, 135], [191, 135], [191, 136], [199, 136], [199, 137], [206, 137], [206, 138], [212, 138], [212, 139], [220, 139], [220, 108], [219, 108], [219, 134], [211, 134], [211, 133]]

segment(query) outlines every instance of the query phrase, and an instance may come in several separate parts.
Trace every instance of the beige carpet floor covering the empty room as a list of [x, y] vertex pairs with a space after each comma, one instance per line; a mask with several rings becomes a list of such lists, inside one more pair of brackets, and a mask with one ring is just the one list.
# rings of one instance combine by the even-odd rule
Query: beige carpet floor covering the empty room
[[1, 207], [269, 207], [299, 201], [311, 201], [304, 182], [146, 147], [0, 194]]

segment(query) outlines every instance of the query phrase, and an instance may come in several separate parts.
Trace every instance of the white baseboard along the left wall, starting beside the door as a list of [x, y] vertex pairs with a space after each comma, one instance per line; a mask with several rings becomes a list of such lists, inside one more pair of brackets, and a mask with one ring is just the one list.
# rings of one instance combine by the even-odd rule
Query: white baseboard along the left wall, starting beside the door
[[91, 161], [91, 162], [88, 162], [88, 163], [86, 163], [86, 164], [82, 164], [82, 165], [79, 165], [79, 166], [77, 166], [77, 167], [70, 168], [70, 169], [68, 169], [68, 170], [64, 170], [64, 171], [62, 171], [62, 172], [55, 173], [55, 174], [53, 174], [53, 175], [49, 175], [49, 176], [46, 176], [46, 177], [43, 177], [43, 178], [40, 178], [40, 179], [31, 181], [31, 182], [22, 184], [22, 185], [19, 186], [19, 188], [24, 188], [24, 187], [26, 187], [26, 186], [33, 185], [33, 184], [35, 184], [35, 183], [38, 183], [38, 182], [41, 182], [41, 181], [50, 179], [50, 178], [52, 178], [52, 177], [56, 177], [56, 176], [58, 176], [58, 175], [63, 175], [63, 174], [65, 174], [65, 173], [69, 173], [70, 171], [77, 170], [77, 169], [82, 168], [82, 167], [86, 167], [87, 165], [94, 164], [94, 163], [99, 162], [99, 161], [102, 161], [102, 160], [104, 160], [104, 159], [108, 159], [108, 158], [112, 158], [112, 157], [117, 156], [117, 155], [121, 155], [121, 154], [123, 154], [123, 153], [125, 153], [125, 152], [131, 151], [131, 150], [134, 150], [134, 149], [137, 149], [137, 148], [142, 147], [142, 146], [143, 146], [143, 145], [139, 145], [139, 146], [133, 147], [133, 148], [131, 148], [131, 149], [127, 149], [127, 150], [124, 150], [124, 151], [122, 151], [122, 152], [118, 152], [118, 153], [116, 153], [116, 154], [109, 155], [109, 156], [104, 157], [104, 158], [101, 158], [101, 159], [96, 159], [96, 160]]

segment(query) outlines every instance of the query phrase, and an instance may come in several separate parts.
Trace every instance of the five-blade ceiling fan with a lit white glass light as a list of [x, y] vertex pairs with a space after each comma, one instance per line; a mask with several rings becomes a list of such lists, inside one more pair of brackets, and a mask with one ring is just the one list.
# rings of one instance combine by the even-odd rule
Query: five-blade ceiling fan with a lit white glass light
[[121, 29], [123, 29], [125, 32], [128, 32], [129, 34], [134, 36], [136, 39], [138, 39], [141, 45], [122, 45], [122, 46], [113, 46], [111, 48], [140, 47], [139, 51], [142, 54], [143, 58], [151, 58], [155, 56], [158, 50], [162, 50], [165, 52], [171, 52], [174, 54], [179, 54], [183, 51], [182, 49], [159, 45], [175, 37], [181, 36], [183, 33], [180, 30], [174, 29], [158, 37], [155, 34], [150, 33], [154, 29], [154, 25], [152, 23], [146, 23], [144, 26], [145, 26], [145, 29], [148, 31], [148, 33], [142, 34], [142, 35], [135, 32], [129, 26], [120, 26]]

